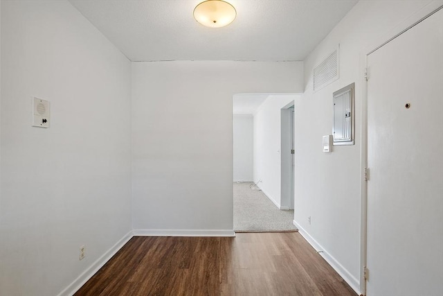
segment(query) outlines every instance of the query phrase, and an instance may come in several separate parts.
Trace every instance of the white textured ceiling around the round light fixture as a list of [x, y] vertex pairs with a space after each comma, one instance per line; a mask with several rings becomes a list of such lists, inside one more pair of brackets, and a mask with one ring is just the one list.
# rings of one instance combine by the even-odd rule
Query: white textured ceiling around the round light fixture
[[228, 0], [237, 18], [206, 28], [203, 0], [70, 0], [129, 60], [304, 60], [356, 0]]

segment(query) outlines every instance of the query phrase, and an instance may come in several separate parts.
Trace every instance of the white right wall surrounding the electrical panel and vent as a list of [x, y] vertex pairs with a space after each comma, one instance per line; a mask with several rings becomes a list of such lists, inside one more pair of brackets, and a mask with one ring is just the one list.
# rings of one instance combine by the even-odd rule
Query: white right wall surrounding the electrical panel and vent
[[[359, 1], [305, 60], [305, 94], [296, 100], [295, 223], [354, 289], [360, 278], [361, 57], [374, 40], [430, 1]], [[340, 79], [312, 91], [312, 71], [340, 44]], [[332, 93], [355, 82], [355, 145], [322, 152], [332, 133]], [[308, 217], [311, 216], [311, 224]]]

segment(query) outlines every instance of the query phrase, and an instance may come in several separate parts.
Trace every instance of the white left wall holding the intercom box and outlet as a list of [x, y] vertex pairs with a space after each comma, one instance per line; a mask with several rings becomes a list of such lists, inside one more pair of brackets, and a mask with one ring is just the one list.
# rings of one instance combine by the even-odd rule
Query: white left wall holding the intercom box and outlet
[[131, 230], [130, 74], [68, 1], [1, 1], [0, 295], [57, 295]]

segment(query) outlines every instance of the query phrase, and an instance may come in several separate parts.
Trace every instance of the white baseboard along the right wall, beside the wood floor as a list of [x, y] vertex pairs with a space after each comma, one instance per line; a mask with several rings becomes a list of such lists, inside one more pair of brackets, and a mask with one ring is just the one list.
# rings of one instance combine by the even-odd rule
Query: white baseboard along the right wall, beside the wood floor
[[356, 277], [354, 277], [353, 275], [351, 275], [351, 273], [343, 267], [343, 265], [341, 265], [333, 256], [331, 256], [331, 254], [329, 254], [324, 247], [322, 247], [312, 236], [310, 236], [305, 229], [303, 229], [303, 227], [301, 227], [296, 220], [293, 220], [293, 225], [295, 225], [295, 227], [298, 228], [298, 232], [305, 238], [305, 240], [312, 246], [314, 247], [314, 249], [318, 252], [318, 251], [322, 251], [319, 252], [318, 254], [320, 254], [320, 256], [323, 257], [323, 259], [325, 259], [325, 261], [327, 263], [329, 263], [329, 265], [332, 266], [332, 268], [334, 268], [334, 270], [338, 273], [338, 275], [340, 275], [341, 277], [343, 277], [343, 279], [347, 282], [347, 284], [349, 284], [349, 286], [351, 286], [351, 288], [358, 294], [361, 295], [360, 292], [360, 283], [359, 280], [356, 279]]

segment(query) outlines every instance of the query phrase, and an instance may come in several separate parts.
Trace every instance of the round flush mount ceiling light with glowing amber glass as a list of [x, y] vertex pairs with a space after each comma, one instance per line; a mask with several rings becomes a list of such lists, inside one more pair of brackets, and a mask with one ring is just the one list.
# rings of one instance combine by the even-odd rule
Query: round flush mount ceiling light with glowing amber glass
[[221, 0], [208, 0], [201, 2], [194, 9], [194, 18], [200, 24], [220, 28], [228, 26], [237, 16], [234, 6]]

